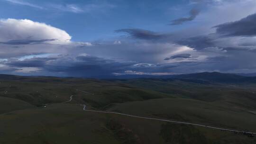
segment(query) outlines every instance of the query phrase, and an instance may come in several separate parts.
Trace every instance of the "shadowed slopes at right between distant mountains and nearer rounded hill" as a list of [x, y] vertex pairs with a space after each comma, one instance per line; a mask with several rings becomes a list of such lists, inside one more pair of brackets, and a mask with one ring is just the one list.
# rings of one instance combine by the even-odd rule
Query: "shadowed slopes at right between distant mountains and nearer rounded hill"
[[171, 94], [179, 98], [223, 103], [230, 107], [256, 109], [255, 84], [201, 84], [180, 80], [127, 80], [122, 81], [144, 89]]

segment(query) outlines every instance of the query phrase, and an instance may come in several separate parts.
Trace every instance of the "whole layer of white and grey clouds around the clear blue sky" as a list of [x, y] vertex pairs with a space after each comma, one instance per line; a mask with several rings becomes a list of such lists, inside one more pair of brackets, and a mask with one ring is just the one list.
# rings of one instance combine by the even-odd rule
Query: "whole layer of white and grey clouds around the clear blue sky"
[[[79, 77], [256, 72], [256, 14], [242, 11], [231, 19], [228, 13], [233, 10], [233, 3], [217, 1], [191, 0], [190, 15], [173, 21], [174, 25], [180, 25], [197, 18], [203, 21], [201, 25], [175, 26], [177, 29], [168, 25], [168, 30], [162, 27], [157, 30], [150, 24], [147, 26], [150, 30], [119, 27], [111, 30], [110, 38], [89, 42], [75, 42], [65, 30], [45, 23], [0, 19], [0, 72]], [[252, 0], [235, 0], [243, 6], [248, 1], [253, 5]], [[201, 9], [200, 15], [194, 6], [199, 3], [209, 8]], [[59, 8], [79, 15], [96, 7], [63, 4]], [[221, 20], [214, 17], [220, 11]], [[204, 22], [208, 17], [210, 22]]]

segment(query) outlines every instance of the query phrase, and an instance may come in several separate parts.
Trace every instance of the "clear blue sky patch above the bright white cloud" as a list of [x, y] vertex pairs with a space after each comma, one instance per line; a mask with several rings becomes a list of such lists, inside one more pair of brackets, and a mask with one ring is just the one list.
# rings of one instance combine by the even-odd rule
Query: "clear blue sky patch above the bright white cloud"
[[172, 31], [167, 24], [190, 7], [188, 0], [0, 0], [0, 18], [27, 18], [63, 29], [73, 41], [93, 41], [124, 27]]

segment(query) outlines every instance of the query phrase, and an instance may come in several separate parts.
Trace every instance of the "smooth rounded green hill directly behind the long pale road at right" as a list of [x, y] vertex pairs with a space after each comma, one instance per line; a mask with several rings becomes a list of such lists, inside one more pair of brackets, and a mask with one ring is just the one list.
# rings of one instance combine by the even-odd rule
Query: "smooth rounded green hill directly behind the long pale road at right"
[[109, 110], [137, 116], [256, 131], [255, 114], [200, 100], [152, 99], [117, 104]]

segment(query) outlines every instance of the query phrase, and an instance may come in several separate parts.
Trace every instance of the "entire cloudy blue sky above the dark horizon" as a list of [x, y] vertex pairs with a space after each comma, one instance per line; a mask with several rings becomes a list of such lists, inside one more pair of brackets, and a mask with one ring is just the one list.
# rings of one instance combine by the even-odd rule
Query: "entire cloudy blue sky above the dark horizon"
[[256, 0], [0, 0], [0, 73], [256, 72]]

